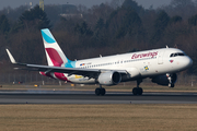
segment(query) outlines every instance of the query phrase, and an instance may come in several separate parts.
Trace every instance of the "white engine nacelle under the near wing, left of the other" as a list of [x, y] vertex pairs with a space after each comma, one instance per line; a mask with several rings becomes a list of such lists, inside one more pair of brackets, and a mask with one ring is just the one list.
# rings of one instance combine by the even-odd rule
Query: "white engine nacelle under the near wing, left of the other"
[[121, 75], [115, 71], [102, 72], [97, 81], [102, 85], [117, 85], [121, 81]]

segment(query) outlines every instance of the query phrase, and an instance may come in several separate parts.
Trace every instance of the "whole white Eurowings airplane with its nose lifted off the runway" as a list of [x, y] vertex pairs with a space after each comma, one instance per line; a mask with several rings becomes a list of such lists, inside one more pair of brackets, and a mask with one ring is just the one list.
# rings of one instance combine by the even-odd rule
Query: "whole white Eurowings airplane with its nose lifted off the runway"
[[102, 85], [113, 86], [128, 81], [137, 81], [132, 94], [142, 95], [143, 90], [139, 85], [147, 78], [159, 85], [174, 87], [176, 73], [193, 66], [193, 60], [184, 51], [167, 46], [161, 49], [71, 61], [65, 56], [48, 28], [40, 32], [48, 66], [16, 62], [9, 49], [5, 49], [11, 62], [60, 81], [99, 84], [95, 95], [105, 95], [106, 91]]

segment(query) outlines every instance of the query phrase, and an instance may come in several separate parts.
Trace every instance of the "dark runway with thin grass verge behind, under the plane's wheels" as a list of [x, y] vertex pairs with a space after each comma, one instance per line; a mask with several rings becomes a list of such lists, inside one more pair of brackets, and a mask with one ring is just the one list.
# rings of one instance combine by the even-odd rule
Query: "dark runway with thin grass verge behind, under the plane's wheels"
[[144, 87], [142, 96], [134, 96], [130, 87], [106, 87], [105, 96], [96, 96], [94, 88], [69, 85], [4, 85], [0, 88], [0, 104], [197, 104], [195, 87], [185, 87], [185, 91], [184, 87]]

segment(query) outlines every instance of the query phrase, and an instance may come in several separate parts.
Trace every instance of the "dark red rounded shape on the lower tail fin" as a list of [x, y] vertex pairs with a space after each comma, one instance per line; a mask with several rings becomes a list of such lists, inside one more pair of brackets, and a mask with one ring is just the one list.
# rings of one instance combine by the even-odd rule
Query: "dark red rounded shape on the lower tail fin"
[[50, 57], [51, 62], [55, 67], [61, 67], [63, 63], [61, 57], [59, 56], [58, 51], [53, 48], [45, 48], [48, 56]]

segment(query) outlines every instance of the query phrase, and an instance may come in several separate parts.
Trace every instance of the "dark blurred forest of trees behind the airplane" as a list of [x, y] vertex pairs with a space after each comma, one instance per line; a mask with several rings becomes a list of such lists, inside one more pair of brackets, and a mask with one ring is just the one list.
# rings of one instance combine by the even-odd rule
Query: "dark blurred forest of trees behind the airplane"
[[88, 9], [78, 5], [71, 17], [58, 5], [19, 7], [0, 11], [0, 72], [12, 72], [4, 48], [26, 63], [46, 64], [42, 28], [50, 28], [71, 60], [177, 47], [194, 60], [187, 73], [197, 74], [197, 0], [172, 0], [144, 9], [134, 0], [112, 0]]

